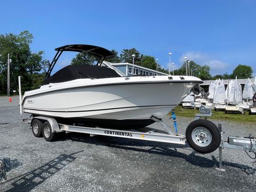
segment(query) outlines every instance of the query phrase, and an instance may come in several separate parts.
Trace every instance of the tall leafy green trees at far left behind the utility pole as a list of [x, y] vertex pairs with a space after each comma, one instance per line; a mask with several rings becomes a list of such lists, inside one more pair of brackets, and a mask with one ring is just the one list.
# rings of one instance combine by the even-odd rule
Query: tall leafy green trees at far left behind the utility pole
[[[12, 60], [10, 66], [10, 89], [18, 89], [18, 76], [22, 76], [22, 90], [27, 91], [32, 87], [32, 74], [43, 70], [47, 66], [43, 60], [43, 51], [32, 53], [30, 44], [33, 36], [29, 31], [23, 31], [18, 35], [0, 35], [0, 74], [4, 78], [6, 85], [7, 74], [7, 55], [10, 54]], [[6, 86], [4, 92], [6, 92]]]

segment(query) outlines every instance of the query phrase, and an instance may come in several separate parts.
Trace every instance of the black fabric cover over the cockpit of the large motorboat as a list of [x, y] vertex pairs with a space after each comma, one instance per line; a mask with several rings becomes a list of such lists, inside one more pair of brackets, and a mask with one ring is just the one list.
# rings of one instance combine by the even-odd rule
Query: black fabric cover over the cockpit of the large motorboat
[[62, 83], [75, 79], [100, 79], [111, 77], [120, 77], [120, 75], [115, 70], [108, 67], [90, 66], [88, 64], [70, 65], [45, 79], [43, 85], [49, 83]]

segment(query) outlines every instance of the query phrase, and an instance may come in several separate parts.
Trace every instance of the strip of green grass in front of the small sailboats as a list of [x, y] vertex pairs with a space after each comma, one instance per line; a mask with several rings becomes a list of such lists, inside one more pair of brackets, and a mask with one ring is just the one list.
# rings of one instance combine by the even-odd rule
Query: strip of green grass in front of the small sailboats
[[[198, 109], [185, 109], [181, 105], [174, 108], [174, 112], [177, 116], [182, 117], [194, 117], [196, 113], [200, 113]], [[256, 115], [249, 115], [249, 112], [245, 114], [230, 114], [224, 111], [212, 111], [213, 116], [210, 119], [235, 121], [235, 122], [256, 122]]]

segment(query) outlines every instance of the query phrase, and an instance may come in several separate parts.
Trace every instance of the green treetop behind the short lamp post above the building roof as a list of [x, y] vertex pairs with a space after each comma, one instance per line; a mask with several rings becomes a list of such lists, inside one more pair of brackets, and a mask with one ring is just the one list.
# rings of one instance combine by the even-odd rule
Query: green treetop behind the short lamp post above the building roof
[[135, 55], [134, 64], [140, 66], [141, 55], [140, 55], [140, 52], [136, 50], [136, 48], [131, 48], [130, 50], [124, 49], [123, 51], [121, 51], [121, 54], [120, 54], [121, 62], [132, 63], [133, 54]]

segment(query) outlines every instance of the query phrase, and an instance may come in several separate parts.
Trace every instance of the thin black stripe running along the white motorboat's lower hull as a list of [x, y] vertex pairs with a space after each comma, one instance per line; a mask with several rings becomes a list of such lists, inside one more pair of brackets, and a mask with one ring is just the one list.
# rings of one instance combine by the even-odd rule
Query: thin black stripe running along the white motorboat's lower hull
[[33, 109], [33, 108], [23, 108], [32, 111], [44, 111], [44, 112], [55, 112], [55, 113], [76, 113], [76, 112], [92, 112], [92, 111], [107, 111], [114, 109], [128, 109], [128, 108], [143, 108], [143, 107], [175, 107], [176, 105], [147, 105], [147, 106], [135, 106], [135, 107], [118, 107], [118, 108], [108, 108], [108, 109], [95, 109], [95, 110], [86, 110], [86, 111], [50, 111], [44, 109]]

